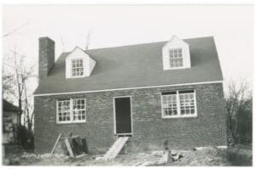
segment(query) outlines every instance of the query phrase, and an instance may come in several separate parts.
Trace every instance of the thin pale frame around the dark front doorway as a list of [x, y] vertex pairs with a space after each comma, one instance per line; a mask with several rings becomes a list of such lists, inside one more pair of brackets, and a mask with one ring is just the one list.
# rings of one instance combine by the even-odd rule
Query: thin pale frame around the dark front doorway
[[[115, 112], [115, 99], [117, 98], [130, 98], [131, 106], [131, 133], [116, 133], [116, 112]], [[133, 122], [132, 122], [132, 105], [131, 105], [131, 95], [128, 96], [115, 96], [113, 97], [113, 134], [114, 135], [132, 135], [133, 133]]]

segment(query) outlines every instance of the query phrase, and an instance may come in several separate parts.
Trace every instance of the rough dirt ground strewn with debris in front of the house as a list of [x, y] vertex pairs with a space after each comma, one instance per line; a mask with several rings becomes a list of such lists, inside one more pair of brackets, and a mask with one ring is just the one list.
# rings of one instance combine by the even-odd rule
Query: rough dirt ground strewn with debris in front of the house
[[[171, 150], [171, 156], [179, 155], [180, 158], [170, 161], [162, 166], [232, 166], [229, 161], [227, 149], [207, 147], [198, 150]], [[163, 155], [163, 151], [148, 151], [144, 153], [126, 153], [118, 155], [112, 161], [98, 161], [102, 155], [84, 155], [79, 158], [71, 158], [67, 155], [35, 155], [27, 152], [5, 154], [3, 162], [6, 165], [19, 166], [159, 166], [157, 161]]]

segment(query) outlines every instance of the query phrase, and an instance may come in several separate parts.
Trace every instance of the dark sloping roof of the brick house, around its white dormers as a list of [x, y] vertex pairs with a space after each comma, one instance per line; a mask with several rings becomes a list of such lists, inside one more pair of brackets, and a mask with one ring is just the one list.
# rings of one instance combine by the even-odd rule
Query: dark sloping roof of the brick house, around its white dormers
[[152, 42], [115, 48], [84, 51], [96, 60], [89, 77], [65, 78], [63, 53], [42, 80], [34, 94], [75, 93], [127, 87], [151, 87], [181, 83], [222, 81], [218, 53], [213, 37], [184, 39], [189, 43], [191, 68], [163, 70], [162, 47], [166, 42]]

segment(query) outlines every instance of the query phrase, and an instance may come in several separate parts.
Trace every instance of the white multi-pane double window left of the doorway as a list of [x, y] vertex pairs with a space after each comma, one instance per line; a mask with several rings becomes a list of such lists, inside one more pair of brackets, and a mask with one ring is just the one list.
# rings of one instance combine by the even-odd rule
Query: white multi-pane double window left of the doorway
[[57, 100], [57, 122], [86, 121], [86, 100], [66, 99]]

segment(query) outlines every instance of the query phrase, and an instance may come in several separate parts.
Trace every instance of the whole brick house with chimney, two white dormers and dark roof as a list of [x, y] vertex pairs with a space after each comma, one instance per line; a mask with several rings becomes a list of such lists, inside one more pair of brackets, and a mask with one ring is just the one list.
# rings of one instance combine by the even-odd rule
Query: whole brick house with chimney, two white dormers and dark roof
[[59, 133], [85, 137], [105, 152], [121, 136], [140, 148], [226, 145], [223, 76], [213, 37], [63, 53], [39, 38], [34, 92], [35, 150]]

